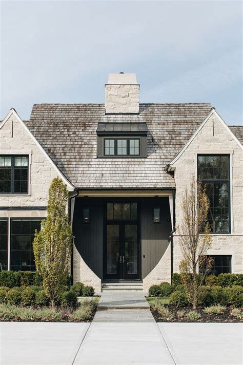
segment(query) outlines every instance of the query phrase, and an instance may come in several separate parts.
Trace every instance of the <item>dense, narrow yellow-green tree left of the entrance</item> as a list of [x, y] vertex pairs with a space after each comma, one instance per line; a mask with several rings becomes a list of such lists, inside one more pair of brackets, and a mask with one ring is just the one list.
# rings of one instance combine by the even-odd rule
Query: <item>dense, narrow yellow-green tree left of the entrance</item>
[[47, 219], [42, 221], [42, 229], [35, 231], [33, 241], [36, 270], [43, 277], [43, 289], [53, 308], [69, 275], [72, 230], [66, 214], [67, 202], [67, 186], [62, 179], [54, 178], [49, 188]]

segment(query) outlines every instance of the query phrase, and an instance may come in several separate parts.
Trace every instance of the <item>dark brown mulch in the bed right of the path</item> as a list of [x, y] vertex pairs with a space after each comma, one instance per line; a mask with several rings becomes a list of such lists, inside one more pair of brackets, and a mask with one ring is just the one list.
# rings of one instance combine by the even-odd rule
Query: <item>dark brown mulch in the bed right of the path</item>
[[224, 313], [222, 314], [207, 314], [205, 313], [202, 308], [198, 308], [196, 310], [197, 313], [199, 313], [201, 315], [201, 318], [197, 319], [196, 321], [191, 321], [189, 319], [187, 319], [186, 317], [183, 318], [178, 318], [177, 317], [177, 311], [184, 311], [185, 314], [192, 311], [192, 308], [175, 308], [174, 306], [171, 305], [165, 305], [169, 311], [174, 315], [174, 319], [172, 320], [167, 320], [165, 318], [161, 318], [161, 314], [158, 313], [157, 311], [154, 311], [153, 309], [151, 309], [151, 313], [154, 317], [154, 319], [156, 320], [156, 322], [187, 322], [187, 323], [192, 323], [192, 322], [220, 322], [220, 323], [231, 323], [231, 322], [243, 322], [242, 319], [238, 319], [234, 316], [231, 316], [230, 311], [231, 308], [227, 308]]

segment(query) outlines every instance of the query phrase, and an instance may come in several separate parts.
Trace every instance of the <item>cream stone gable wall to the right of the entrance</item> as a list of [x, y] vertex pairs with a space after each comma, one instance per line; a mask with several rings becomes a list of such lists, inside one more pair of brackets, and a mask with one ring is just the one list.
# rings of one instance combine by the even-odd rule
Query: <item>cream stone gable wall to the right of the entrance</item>
[[[243, 150], [224, 123], [213, 113], [193, 141], [174, 163], [176, 183], [176, 226], [180, 225], [180, 209], [184, 189], [197, 176], [197, 153], [229, 153], [231, 161], [231, 234], [212, 235], [208, 254], [232, 255], [232, 272], [243, 272]], [[179, 236], [174, 234], [174, 272], [181, 260]]]

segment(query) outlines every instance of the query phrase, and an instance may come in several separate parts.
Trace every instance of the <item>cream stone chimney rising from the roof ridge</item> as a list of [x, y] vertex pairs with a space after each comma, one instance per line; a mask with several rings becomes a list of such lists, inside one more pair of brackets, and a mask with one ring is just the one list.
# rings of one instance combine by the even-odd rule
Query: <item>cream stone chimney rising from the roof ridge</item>
[[106, 114], [139, 112], [139, 84], [135, 73], [110, 73], [105, 91]]

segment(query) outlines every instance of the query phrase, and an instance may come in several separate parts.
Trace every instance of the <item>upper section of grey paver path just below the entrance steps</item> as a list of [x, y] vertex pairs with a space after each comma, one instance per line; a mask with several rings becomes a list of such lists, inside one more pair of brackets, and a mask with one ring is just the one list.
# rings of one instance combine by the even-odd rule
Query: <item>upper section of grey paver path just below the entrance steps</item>
[[107, 291], [100, 296], [98, 308], [150, 308], [141, 291]]

